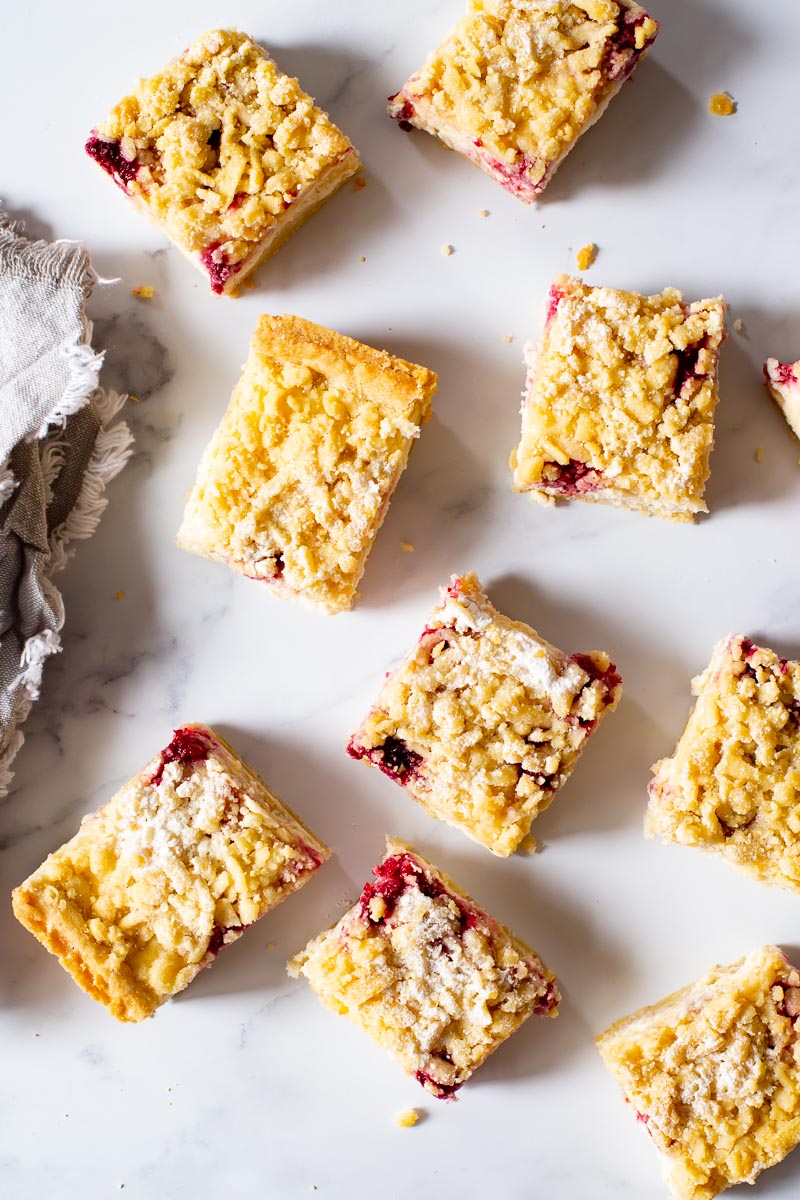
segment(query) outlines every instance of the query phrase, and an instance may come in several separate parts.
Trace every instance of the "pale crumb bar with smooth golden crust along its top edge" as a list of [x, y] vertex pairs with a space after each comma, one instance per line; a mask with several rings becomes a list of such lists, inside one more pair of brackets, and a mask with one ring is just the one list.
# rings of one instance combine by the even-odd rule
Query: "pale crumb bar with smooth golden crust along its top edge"
[[437, 377], [300, 317], [261, 317], [178, 544], [323, 612], [351, 607]]

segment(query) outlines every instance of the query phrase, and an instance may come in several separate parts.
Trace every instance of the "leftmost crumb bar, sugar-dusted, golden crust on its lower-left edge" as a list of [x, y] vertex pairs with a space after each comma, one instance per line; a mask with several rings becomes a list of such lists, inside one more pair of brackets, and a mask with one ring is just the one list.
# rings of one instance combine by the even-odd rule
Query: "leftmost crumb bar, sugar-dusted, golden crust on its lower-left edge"
[[329, 857], [222, 738], [185, 725], [13, 908], [84, 991], [140, 1021]]

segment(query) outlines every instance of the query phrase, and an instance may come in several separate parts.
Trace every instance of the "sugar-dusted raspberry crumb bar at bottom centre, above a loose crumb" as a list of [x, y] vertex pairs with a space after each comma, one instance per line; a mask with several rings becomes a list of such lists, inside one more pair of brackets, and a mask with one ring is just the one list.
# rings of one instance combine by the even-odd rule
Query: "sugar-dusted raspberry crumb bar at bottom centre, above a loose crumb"
[[531, 1014], [557, 1016], [555, 978], [446, 875], [387, 840], [361, 898], [289, 962], [439, 1099]]

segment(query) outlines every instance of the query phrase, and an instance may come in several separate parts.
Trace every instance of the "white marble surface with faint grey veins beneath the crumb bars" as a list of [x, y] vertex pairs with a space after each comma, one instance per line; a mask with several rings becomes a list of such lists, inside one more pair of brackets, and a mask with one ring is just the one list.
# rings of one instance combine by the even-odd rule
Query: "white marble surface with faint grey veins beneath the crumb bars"
[[[740, 629], [800, 650], [800, 446], [759, 377], [768, 354], [800, 354], [800, 8], [782, 6], [770, 28], [754, 20], [754, 0], [654, 0], [663, 31], [650, 60], [529, 210], [384, 115], [384, 97], [461, 7], [138, 0], [122, 17], [97, 0], [42, 0], [4, 13], [1, 88], [11, 114], [24, 112], [4, 122], [7, 205], [35, 232], [84, 239], [98, 270], [122, 277], [94, 312], [109, 379], [140, 397], [136, 456], [62, 577], [64, 653], [0, 806], [4, 894], [185, 720], [217, 725], [336, 850], [140, 1026], [118, 1026], [79, 992], [4, 902], [7, 1200], [101, 1200], [121, 1184], [131, 1200], [289, 1200], [313, 1186], [326, 1200], [657, 1200], [655, 1151], [593, 1036], [715, 961], [800, 943], [796, 898], [642, 836], [648, 768], [670, 751], [714, 642]], [[82, 151], [137, 74], [221, 22], [300, 74], [362, 150], [368, 179], [237, 301], [212, 298]], [[739, 114], [712, 118], [708, 96], [726, 88]], [[551, 276], [572, 270], [590, 240], [590, 281], [724, 292], [745, 323], [723, 352], [712, 515], [696, 528], [539, 509], [510, 490], [522, 343]], [[150, 304], [130, 296], [140, 283], [156, 288]], [[172, 541], [255, 318], [285, 310], [441, 376], [361, 604], [338, 618], [278, 604]], [[470, 568], [499, 606], [565, 648], [608, 649], [625, 677], [616, 715], [536, 822], [534, 858], [492, 858], [343, 752], [438, 584]], [[564, 985], [559, 1020], [531, 1020], [457, 1104], [428, 1098], [284, 974], [289, 954], [357, 893], [387, 830], [456, 875]], [[425, 1122], [395, 1128], [411, 1104]], [[748, 1194], [788, 1200], [799, 1187], [795, 1156]]]

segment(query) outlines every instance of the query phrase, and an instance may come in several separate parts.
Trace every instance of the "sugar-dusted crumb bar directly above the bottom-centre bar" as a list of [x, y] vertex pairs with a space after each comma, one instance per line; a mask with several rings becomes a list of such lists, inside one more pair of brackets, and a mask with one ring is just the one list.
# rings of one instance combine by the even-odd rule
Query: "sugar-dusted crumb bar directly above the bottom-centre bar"
[[621, 684], [607, 654], [564, 654], [499, 613], [475, 575], [453, 576], [348, 754], [505, 857], [566, 782]]

